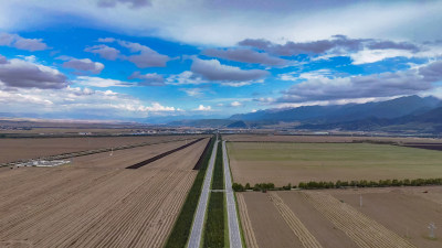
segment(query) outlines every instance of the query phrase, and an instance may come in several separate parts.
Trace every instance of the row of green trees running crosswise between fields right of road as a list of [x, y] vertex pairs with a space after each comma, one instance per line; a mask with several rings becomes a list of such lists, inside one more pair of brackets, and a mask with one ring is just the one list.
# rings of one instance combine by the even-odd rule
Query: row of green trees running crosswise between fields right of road
[[[314, 188], [344, 188], [344, 187], [386, 187], [386, 186], [425, 186], [425, 185], [442, 185], [442, 179], [414, 179], [414, 180], [379, 180], [379, 181], [337, 181], [337, 182], [325, 182], [325, 181], [311, 181], [311, 182], [301, 182], [297, 187], [304, 190], [314, 190]], [[245, 184], [243, 186], [240, 183], [232, 184], [233, 191], [243, 192], [243, 191], [290, 191], [292, 188], [296, 188], [296, 185], [292, 186], [292, 184], [287, 184], [282, 187], [275, 187], [273, 183], [261, 183], [255, 184], [253, 187], [250, 184]]]

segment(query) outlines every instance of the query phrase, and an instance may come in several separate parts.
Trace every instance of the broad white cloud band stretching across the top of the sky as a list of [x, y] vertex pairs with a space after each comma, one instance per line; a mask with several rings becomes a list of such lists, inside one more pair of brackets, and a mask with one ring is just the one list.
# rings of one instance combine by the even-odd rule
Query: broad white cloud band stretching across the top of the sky
[[[192, 44], [231, 46], [248, 37], [312, 41], [337, 33], [424, 41], [441, 37], [441, 11], [440, 1], [276, 1], [269, 4], [266, 1], [162, 0], [143, 9], [116, 4], [103, 10], [91, 0], [25, 0], [2, 2], [0, 29], [48, 25], [57, 21], [54, 15], [65, 13], [87, 17], [87, 25], [105, 24], [114, 32]], [[52, 13], [56, 14], [51, 17]]]

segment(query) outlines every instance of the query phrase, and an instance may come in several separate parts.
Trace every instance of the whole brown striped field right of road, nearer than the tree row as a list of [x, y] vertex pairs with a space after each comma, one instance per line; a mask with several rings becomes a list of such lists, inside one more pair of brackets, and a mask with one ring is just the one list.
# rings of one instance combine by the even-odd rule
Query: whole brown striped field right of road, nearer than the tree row
[[[236, 193], [248, 247], [442, 246], [436, 186]], [[360, 206], [362, 196], [362, 206]], [[263, 214], [265, 213], [265, 214]]]

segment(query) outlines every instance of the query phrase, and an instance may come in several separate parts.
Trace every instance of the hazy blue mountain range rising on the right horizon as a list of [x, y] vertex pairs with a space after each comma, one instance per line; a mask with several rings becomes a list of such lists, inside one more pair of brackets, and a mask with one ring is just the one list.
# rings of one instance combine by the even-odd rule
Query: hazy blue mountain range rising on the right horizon
[[367, 104], [266, 109], [227, 119], [181, 120], [169, 125], [436, 133], [442, 130], [442, 101], [435, 97], [406, 96]]

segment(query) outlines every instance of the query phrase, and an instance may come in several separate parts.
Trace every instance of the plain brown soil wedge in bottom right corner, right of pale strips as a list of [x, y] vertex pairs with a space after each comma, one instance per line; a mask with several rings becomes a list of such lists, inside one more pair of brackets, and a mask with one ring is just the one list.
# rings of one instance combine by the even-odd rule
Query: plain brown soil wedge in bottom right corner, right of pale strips
[[[369, 216], [417, 247], [442, 247], [442, 187], [391, 187], [385, 190], [358, 188], [330, 191], [341, 200]], [[362, 207], [359, 197], [362, 196]], [[433, 200], [435, 198], [435, 201]], [[439, 201], [439, 203], [438, 203]], [[435, 240], [429, 238], [429, 224], [434, 223]]]

